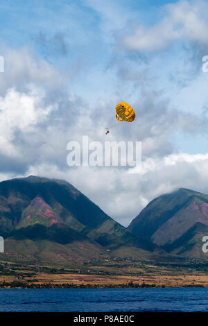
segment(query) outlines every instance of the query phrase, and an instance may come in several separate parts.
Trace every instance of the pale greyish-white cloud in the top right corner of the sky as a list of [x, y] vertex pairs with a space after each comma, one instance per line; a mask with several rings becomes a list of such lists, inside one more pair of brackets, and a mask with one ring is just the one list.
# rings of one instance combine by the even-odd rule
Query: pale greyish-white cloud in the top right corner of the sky
[[126, 49], [159, 51], [176, 41], [208, 41], [208, 6], [205, 1], [180, 0], [164, 7], [165, 15], [153, 26], [138, 26], [132, 35], [123, 37]]

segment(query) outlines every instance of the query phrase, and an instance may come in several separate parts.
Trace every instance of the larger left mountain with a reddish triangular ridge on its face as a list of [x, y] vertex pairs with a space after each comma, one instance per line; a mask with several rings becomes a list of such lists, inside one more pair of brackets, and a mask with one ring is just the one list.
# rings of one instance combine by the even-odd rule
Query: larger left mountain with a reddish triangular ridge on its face
[[[64, 252], [73, 250], [76, 241], [90, 247], [85, 259], [92, 258], [92, 252], [103, 255], [106, 250], [119, 252], [121, 247], [129, 254], [138, 250], [139, 255], [140, 250], [143, 257], [149, 257], [150, 252], [164, 253], [155, 243], [123, 228], [68, 182], [35, 176], [0, 182], [0, 234], [6, 238], [8, 255], [16, 252], [21, 257], [17, 248], [24, 248], [31, 259], [43, 257], [35, 250], [40, 248], [37, 243], [45, 243], [47, 248], [55, 248], [57, 243]], [[35, 256], [32, 252], [36, 252]], [[53, 252], [48, 257], [57, 259]]]

